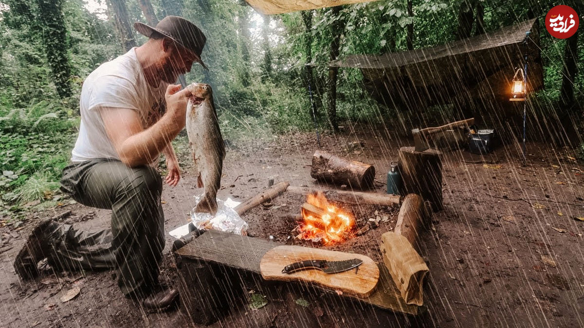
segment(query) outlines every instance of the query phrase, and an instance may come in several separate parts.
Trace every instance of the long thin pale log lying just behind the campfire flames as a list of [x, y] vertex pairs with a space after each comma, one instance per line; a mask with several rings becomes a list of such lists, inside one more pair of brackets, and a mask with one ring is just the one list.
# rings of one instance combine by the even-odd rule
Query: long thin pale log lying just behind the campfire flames
[[313, 189], [308, 187], [288, 187], [288, 192], [293, 194], [312, 194], [317, 192], [325, 194], [328, 200], [347, 204], [371, 204], [380, 206], [394, 206], [399, 204], [400, 197], [397, 195], [363, 193], [361, 191], [343, 191], [330, 189]]

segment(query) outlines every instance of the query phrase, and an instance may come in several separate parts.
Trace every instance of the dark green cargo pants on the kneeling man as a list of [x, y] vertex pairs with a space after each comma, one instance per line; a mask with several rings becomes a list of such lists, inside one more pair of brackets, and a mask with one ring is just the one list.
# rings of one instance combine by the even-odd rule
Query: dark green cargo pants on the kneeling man
[[73, 163], [61, 191], [90, 207], [112, 210], [112, 228], [89, 233], [71, 225], [51, 230], [51, 266], [68, 270], [116, 268], [125, 295], [157, 283], [164, 248], [162, 178], [151, 166], [128, 168], [119, 160]]

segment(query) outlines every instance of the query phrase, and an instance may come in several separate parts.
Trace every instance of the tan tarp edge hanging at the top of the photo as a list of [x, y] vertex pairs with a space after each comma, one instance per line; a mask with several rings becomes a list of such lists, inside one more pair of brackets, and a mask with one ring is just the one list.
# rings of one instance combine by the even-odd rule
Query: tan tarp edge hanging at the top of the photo
[[370, 2], [371, 0], [245, 0], [253, 9], [263, 15], [307, 11], [332, 6]]

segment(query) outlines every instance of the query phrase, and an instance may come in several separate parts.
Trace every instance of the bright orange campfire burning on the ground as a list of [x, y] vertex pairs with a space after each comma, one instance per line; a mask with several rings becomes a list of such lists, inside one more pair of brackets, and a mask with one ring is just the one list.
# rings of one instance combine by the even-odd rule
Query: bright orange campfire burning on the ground
[[355, 226], [353, 214], [326, 200], [322, 192], [308, 194], [302, 205], [302, 221], [298, 226], [299, 239], [322, 245], [342, 242], [349, 238]]

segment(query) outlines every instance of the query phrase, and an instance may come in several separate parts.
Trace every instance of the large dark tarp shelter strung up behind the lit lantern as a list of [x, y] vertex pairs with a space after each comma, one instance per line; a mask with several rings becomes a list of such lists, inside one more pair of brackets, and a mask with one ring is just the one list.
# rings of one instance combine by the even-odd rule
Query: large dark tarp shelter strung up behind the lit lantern
[[[530, 40], [523, 45], [526, 32]], [[422, 109], [440, 103], [508, 101], [515, 69], [528, 54], [527, 92], [543, 88], [537, 20], [440, 46], [349, 55], [330, 67], [360, 68], [364, 86], [388, 107]]]

